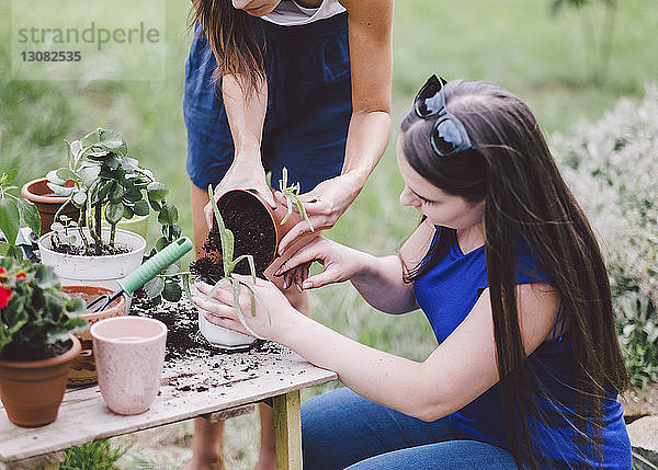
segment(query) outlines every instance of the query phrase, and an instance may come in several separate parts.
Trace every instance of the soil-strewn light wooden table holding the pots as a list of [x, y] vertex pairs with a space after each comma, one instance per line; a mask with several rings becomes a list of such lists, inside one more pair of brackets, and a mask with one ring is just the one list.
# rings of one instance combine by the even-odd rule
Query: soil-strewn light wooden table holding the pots
[[[261, 351], [215, 354], [167, 364], [160, 394], [143, 414], [122, 416], [107, 409], [98, 386], [68, 390], [57, 420], [24, 428], [0, 410], [0, 469], [25, 468], [34, 458], [104, 437], [238, 410], [272, 400], [279, 470], [302, 468], [299, 391], [337, 378], [297, 354], [268, 343]], [[57, 468], [57, 467], [54, 467]]]

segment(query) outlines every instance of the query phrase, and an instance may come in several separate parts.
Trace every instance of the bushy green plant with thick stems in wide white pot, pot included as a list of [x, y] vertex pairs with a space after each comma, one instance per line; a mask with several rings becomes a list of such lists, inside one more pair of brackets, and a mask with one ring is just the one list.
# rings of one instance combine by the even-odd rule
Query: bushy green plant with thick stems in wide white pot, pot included
[[66, 284], [113, 288], [141, 264], [146, 241], [118, 229], [122, 219], [158, 213], [162, 236], [156, 251], [181, 233], [178, 209], [166, 199], [167, 186], [128, 157], [126, 142], [112, 129], [98, 128], [70, 142], [68, 167], [48, 172], [47, 179], [54, 193], [80, 210], [77, 220], [57, 214], [53, 231], [39, 239], [43, 263], [55, 266]]

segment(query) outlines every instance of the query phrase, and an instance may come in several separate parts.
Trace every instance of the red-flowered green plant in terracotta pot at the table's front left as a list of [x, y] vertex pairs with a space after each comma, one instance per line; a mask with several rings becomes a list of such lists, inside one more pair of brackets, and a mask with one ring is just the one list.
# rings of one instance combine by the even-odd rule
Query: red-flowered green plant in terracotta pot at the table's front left
[[41, 426], [57, 417], [81, 349], [72, 333], [87, 325], [83, 311], [52, 267], [0, 259], [0, 398], [13, 423]]

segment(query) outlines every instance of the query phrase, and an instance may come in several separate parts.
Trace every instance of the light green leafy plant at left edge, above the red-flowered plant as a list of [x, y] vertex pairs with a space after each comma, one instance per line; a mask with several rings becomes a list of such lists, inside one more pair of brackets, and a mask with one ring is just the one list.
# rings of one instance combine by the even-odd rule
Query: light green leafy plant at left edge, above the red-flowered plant
[[12, 185], [16, 173], [18, 171], [12, 169], [0, 176], [0, 232], [4, 237], [4, 240], [0, 241], [0, 255], [20, 260], [23, 252], [16, 245], [19, 229], [30, 227], [38, 236], [41, 219], [34, 204], [11, 194], [18, 190]]

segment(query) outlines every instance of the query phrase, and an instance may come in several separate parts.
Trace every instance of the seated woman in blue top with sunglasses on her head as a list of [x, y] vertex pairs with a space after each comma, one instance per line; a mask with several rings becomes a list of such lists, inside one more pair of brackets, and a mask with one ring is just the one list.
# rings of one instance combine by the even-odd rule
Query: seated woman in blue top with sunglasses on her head
[[[281, 273], [304, 288], [349, 279], [388, 313], [421, 308], [439, 342], [424, 362], [349, 340], [257, 283], [268, 307], [247, 319], [253, 331], [349, 387], [304, 403], [304, 467], [631, 469], [601, 252], [530, 110], [492, 84], [434, 76], [397, 159], [400, 203], [423, 216], [398, 255], [319, 239]], [[311, 260], [325, 271], [299, 278]], [[231, 293], [215, 297], [224, 305], [195, 301], [243, 332]]]

